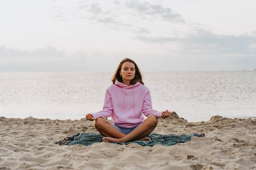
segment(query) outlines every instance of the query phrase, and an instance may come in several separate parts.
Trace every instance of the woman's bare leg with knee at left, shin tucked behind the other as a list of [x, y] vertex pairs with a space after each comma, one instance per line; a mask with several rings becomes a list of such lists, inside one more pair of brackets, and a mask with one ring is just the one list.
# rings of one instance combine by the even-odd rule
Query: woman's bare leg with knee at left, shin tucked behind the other
[[94, 121], [94, 126], [97, 131], [103, 135], [113, 138], [122, 138], [125, 136], [122, 132], [119, 132], [109, 121], [99, 117]]

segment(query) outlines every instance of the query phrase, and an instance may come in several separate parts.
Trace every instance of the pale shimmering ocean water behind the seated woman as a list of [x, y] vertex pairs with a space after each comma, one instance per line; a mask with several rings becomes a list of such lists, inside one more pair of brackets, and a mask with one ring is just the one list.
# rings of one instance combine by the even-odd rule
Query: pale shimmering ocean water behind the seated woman
[[[81, 119], [102, 109], [113, 73], [0, 73], [0, 116]], [[256, 117], [256, 71], [144, 72], [153, 109], [188, 121]]]

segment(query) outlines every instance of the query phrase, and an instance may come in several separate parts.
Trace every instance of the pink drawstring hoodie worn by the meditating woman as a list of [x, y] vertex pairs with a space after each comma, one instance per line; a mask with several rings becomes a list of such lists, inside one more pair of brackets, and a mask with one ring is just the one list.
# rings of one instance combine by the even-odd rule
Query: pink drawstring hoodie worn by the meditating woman
[[106, 90], [103, 110], [91, 115], [95, 119], [111, 116], [111, 123], [123, 128], [133, 128], [144, 121], [142, 113], [146, 117], [155, 115], [161, 118], [163, 112], [152, 109], [150, 91], [146, 86], [140, 82], [127, 86], [116, 80]]

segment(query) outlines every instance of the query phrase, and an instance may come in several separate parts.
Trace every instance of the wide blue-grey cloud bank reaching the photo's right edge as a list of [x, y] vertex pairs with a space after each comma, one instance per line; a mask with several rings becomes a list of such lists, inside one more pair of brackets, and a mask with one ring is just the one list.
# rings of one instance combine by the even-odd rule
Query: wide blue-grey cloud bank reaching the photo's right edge
[[206, 30], [198, 30], [195, 34], [179, 37], [136, 36], [145, 43], [179, 44], [179, 52], [197, 54], [250, 54], [256, 55], [256, 37], [251, 35], [220, 35]]

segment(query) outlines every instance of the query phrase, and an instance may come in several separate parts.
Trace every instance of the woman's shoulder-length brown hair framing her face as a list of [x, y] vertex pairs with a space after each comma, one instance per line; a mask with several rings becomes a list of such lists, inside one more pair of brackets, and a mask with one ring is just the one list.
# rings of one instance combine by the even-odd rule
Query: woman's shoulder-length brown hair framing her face
[[141, 72], [140, 72], [140, 69], [139, 67], [137, 66], [137, 64], [131, 60], [130, 58], [124, 58], [120, 64], [118, 65], [116, 71], [115, 71], [115, 74], [113, 75], [112, 77], [112, 82], [113, 84], [115, 84], [115, 81], [118, 80], [119, 82], [123, 83], [123, 79], [122, 77], [120, 77], [120, 71], [122, 69], [122, 66], [125, 62], [131, 62], [135, 65], [135, 75], [134, 75], [134, 78], [130, 81], [130, 83], [133, 85], [133, 84], [136, 84], [137, 82], [140, 82], [141, 84], [144, 85], [144, 83], [142, 82], [142, 75], [141, 75]]

